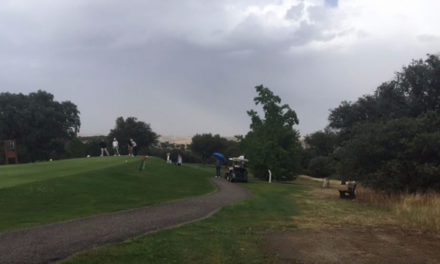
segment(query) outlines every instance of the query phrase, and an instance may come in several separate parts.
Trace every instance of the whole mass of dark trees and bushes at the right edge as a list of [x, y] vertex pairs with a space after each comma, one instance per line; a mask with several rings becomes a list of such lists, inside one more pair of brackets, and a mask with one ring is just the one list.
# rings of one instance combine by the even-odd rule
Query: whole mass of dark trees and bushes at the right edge
[[318, 145], [326, 149], [336, 142], [324, 156], [342, 179], [387, 192], [440, 190], [438, 56], [413, 61], [373, 95], [342, 102], [329, 121], [336, 141], [328, 138]]

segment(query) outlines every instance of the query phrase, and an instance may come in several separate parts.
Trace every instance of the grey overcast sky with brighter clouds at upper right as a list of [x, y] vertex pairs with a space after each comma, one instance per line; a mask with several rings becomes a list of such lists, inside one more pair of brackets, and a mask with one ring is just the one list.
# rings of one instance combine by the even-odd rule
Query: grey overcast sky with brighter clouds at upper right
[[0, 92], [39, 89], [81, 135], [135, 116], [162, 135], [245, 134], [254, 87], [302, 135], [329, 109], [440, 52], [439, 0], [1, 0]]

